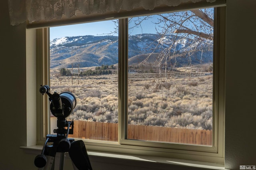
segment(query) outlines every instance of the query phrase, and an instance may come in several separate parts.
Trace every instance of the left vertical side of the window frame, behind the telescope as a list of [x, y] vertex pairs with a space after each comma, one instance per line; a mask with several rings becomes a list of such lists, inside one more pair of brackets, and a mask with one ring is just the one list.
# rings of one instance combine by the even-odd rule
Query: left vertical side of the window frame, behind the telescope
[[[49, 28], [36, 30], [36, 85], [46, 85], [50, 83], [50, 49]], [[38, 89], [39, 90], [39, 89]], [[50, 103], [48, 97], [36, 93], [37, 107], [37, 143], [44, 144], [46, 135], [50, 132]]]

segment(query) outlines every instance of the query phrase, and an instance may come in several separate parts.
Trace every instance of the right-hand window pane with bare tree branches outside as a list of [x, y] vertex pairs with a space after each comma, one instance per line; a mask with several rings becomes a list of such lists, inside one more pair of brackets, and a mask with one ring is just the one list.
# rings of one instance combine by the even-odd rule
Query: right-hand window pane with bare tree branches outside
[[[212, 145], [213, 8], [129, 18], [127, 138]], [[203, 33], [203, 34], [202, 34]]]

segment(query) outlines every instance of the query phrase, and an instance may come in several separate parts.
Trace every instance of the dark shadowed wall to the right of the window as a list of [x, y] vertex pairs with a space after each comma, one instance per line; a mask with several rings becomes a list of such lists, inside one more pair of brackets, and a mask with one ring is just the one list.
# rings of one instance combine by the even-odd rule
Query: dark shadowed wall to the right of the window
[[256, 165], [256, 1], [227, 0], [225, 167]]

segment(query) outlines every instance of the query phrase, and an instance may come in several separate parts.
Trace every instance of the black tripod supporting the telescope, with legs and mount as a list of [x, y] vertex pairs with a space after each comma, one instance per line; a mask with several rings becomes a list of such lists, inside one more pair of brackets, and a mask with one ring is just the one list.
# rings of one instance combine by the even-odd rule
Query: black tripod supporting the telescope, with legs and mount
[[[69, 133], [73, 134], [73, 125], [73, 121], [57, 119], [57, 126], [61, 128], [54, 129], [57, 134], [46, 135], [42, 153], [36, 156], [34, 160], [36, 167], [40, 170], [63, 170], [65, 152], [68, 152], [74, 170], [92, 170], [84, 142], [68, 138]], [[67, 129], [64, 127], [67, 127]], [[48, 142], [52, 142], [52, 144], [47, 145]], [[60, 153], [60, 159], [56, 158], [58, 152]]]

